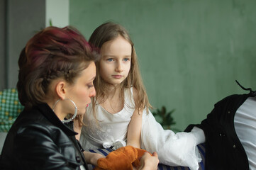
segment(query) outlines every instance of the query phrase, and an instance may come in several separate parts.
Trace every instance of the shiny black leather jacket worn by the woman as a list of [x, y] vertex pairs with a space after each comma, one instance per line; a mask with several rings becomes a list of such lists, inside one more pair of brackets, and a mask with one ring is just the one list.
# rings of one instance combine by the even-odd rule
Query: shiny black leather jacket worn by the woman
[[72, 125], [47, 104], [23, 111], [6, 136], [0, 169], [88, 169]]

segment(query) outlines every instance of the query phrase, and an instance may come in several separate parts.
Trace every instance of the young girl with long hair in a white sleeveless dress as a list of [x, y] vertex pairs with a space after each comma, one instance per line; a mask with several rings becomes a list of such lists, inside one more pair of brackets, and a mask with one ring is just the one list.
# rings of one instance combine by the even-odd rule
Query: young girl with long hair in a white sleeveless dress
[[150, 113], [148, 96], [133, 42], [125, 28], [104, 23], [89, 43], [98, 47], [96, 97], [87, 108], [80, 142], [86, 149], [117, 149], [126, 145], [157, 152], [162, 164], [198, 169], [201, 161], [193, 132], [163, 130]]

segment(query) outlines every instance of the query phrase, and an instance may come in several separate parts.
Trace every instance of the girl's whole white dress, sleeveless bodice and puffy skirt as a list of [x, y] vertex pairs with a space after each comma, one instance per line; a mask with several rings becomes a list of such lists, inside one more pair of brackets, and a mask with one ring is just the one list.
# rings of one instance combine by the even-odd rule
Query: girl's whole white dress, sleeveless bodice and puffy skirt
[[[91, 105], [87, 108], [82, 127], [80, 142], [85, 149], [98, 149], [126, 146], [126, 137], [130, 117], [135, 111], [133, 97], [130, 97], [133, 88], [126, 89], [125, 106], [122, 111], [111, 114], [100, 105], [96, 106], [96, 118], [92, 113]], [[160, 163], [169, 166], [189, 166], [191, 170], [199, 169], [201, 156], [196, 147], [204, 139], [201, 139], [204, 132], [194, 129], [192, 132], [177, 132], [164, 130], [160, 123], [157, 123], [152, 113], [143, 111], [143, 123], [141, 130], [140, 146], [148, 152], [157, 152]]]

